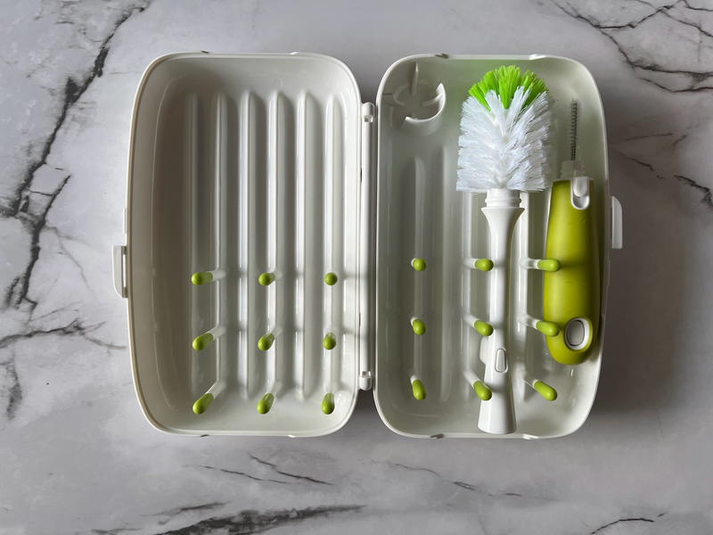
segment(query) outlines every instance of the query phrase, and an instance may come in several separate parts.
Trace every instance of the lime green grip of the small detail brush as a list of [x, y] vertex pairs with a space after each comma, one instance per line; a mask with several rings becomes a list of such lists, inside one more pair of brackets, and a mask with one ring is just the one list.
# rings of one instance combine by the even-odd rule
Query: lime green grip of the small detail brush
[[[561, 364], [581, 364], [589, 356], [599, 329], [601, 303], [599, 241], [594, 214], [594, 195], [585, 210], [570, 201], [570, 181], [558, 180], [552, 186], [550, 217], [547, 224], [546, 258], [557, 259], [560, 269], [545, 271], [544, 317], [560, 328], [547, 336], [547, 348]], [[578, 349], [565, 342], [570, 320], [588, 320], [588, 334]]]

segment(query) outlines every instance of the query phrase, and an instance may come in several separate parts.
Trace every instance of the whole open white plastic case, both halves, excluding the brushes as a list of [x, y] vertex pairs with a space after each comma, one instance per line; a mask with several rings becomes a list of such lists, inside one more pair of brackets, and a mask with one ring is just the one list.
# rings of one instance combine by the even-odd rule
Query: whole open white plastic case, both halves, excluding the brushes
[[[479, 431], [479, 399], [463, 380], [466, 367], [481, 374], [483, 366], [479, 335], [463, 314], [487, 312], [487, 274], [463, 259], [488, 254], [484, 195], [456, 193], [455, 168], [467, 89], [504, 63], [545, 79], [556, 162], [566, 158], [570, 100], [580, 103], [604, 310], [621, 216], [609, 194], [602, 103], [578, 62], [412, 56], [389, 68], [375, 105], [361, 103], [343, 63], [319, 54], [176, 53], [152, 62], [135, 98], [127, 245], [115, 247], [114, 282], [128, 298], [136, 392], [155, 427], [324, 435], [346, 424], [357, 391], [375, 380], [379, 414], [395, 432], [496, 436]], [[592, 406], [604, 318], [579, 366], [554, 362], [543, 335], [517, 322], [542, 310], [542, 275], [520, 259], [544, 255], [548, 193], [522, 199], [509, 325], [517, 429], [506, 436], [556, 437], [578, 429]], [[427, 259], [426, 271], [414, 271], [414, 257]], [[211, 269], [225, 278], [190, 283], [193, 272]], [[275, 272], [275, 283], [258, 284], [263, 272]], [[324, 284], [327, 272], [339, 282]], [[428, 325], [421, 337], [410, 325], [417, 310]], [[193, 350], [193, 338], [216, 327], [216, 341]], [[268, 332], [273, 346], [258, 350]], [[323, 348], [325, 333], [337, 338], [333, 350]], [[426, 399], [411, 393], [414, 366]], [[558, 399], [528, 390], [526, 367]], [[193, 414], [193, 401], [215, 383], [209, 410]], [[266, 392], [275, 401], [258, 414]], [[327, 392], [330, 415], [321, 410]]]

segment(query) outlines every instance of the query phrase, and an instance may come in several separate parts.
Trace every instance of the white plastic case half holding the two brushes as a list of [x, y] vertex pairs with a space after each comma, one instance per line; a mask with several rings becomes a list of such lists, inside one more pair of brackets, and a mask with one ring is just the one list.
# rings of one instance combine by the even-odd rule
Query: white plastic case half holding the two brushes
[[[609, 271], [611, 197], [602, 103], [594, 78], [578, 62], [549, 56], [420, 55], [394, 63], [381, 80], [379, 110], [378, 231], [376, 238], [376, 387], [381, 418], [414, 437], [496, 437], [478, 429], [480, 400], [463, 377], [483, 377], [481, 336], [472, 327], [487, 318], [488, 273], [464, 259], [487, 258], [485, 194], [456, 192], [460, 115], [468, 89], [488, 70], [514, 64], [545, 80], [553, 99], [553, 168], [569, 159], [570, 102], [580, 103], [581, 158], [594, 177], [593, 206], [600, 229], [603, 295]], [[591, 356], [562, 366], [549, 356], [542, 333], [518, 318], [541, 317], [541, 272], [522, 266], [545, 258], [549, 192], [522, 193], [525, 208], [512, 239], [509, 354], [517, 428], [511, 438], [569, 434], [594, 402], [602, 358], [603, 326]], [[428, 268], [412, 267], [422, 258]], [[603, 307], [602, 307], [603, 310]], [[415, 335], [410, 321], [427, 326]], [[603, 318], [600, 325], [603, 325]], [[524, 383], [525, 374], [552, 384], [553, 402]], [[426, 399], [415, 399], [411, 378]]]

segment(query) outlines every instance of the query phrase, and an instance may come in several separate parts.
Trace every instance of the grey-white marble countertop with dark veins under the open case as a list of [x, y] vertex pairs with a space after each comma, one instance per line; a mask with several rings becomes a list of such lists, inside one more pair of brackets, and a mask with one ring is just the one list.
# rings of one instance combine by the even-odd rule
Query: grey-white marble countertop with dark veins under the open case
[[[708, 0], [29, 0], [0, 23], [0, 531], [713, 531], [713, 5]], [[371, 393], [321, 439], [185, 438], [135, 399], [122, 243], [135, 86], [174, 51], [311, 51], [373, 100], [411, 53], [584, 62], [608, 120], [602, 378], [559, 440], [409, 440]]]

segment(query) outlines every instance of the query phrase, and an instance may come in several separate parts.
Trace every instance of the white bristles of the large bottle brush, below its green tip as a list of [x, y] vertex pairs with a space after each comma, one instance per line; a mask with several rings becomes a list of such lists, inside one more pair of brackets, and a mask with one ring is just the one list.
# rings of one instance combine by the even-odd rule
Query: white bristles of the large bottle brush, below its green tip
[[552, 184], [547, 93], [525, 107], [528, 94], [518, 87], [508, 109], [495, 91], [485, 95], [489, 111], [473, 96], [463, 103], [456, 189], [538, 192]]

